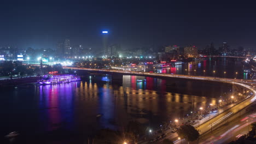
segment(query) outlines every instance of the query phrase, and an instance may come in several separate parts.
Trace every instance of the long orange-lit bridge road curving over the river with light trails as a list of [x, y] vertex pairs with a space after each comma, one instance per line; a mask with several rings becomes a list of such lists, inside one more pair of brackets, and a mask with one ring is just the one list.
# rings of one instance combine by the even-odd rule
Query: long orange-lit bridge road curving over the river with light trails
[[[231, 118], [241, 110], [245, 109], [245, 107], [253, 104], [256, 101], [256, 91], [254, 86], [252, 87], [250, 84], [255, 83], [253, 80], [239, 80], [239, 79], [226, 79], [221, 77], [211, 77], [211, 76], [189, 76], [189, 75], [176, 75], [176, 74], [159, 74], [159, 73], [147, 73], [140, 71], [123, 71], [123, 70], [111, 70], [111, 69], [91, 69], [91, 68], [76, 68], [76, 67], [63, 67], [65, 69], [75, 69], [75, 70], [85, 70], [90, 71], [92, 73], [106, 73], [106, 74], [114, 74], [113, 77], [118, 77], [120, 79], [121, 75], [138, 75], [138, 76], [153, 76], [153, 77], [172, 77], [178, 79], [191, 79], [191, 80], [201, 80], [201, 81], [214, 81], [214, 82], [223, 82], [230, 83], [232, 85], [237, 85], [247, 89], [247, 91], [251, 91], [251, 97], [247, 97], [245, 100], [240, 103], [230, 107], [229, 109], [218, 113], [218, 115], [214, 115], [212, 117], [208, 117], [202, 119], [201, 124], [196, 125], [196, 129], [200, 129], [200, 134], [205, 134], [208, 131], [211, 131], [212, 127], [215, 127], [221, 122], [226, 121], [226, 119]], [[171, 134], [170, 136], [176, 137], [177, 134]]]

